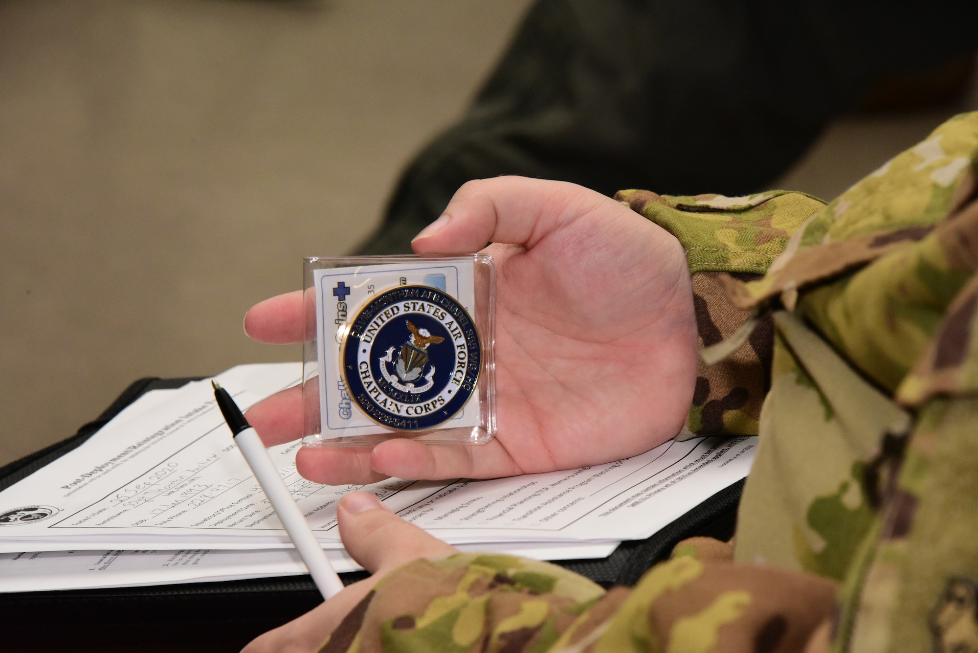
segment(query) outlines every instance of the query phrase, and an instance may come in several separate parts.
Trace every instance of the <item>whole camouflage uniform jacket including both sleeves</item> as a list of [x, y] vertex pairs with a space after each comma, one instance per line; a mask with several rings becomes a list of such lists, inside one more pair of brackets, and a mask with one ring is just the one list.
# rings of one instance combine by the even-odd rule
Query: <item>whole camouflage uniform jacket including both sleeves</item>
[[978, 113], [828, 204], [618, 198], [687, 248], [687, 428], [759, 433], [733, 544], [635, 588], [457, 554], [392, 572], [323, 651], [978, 651]]

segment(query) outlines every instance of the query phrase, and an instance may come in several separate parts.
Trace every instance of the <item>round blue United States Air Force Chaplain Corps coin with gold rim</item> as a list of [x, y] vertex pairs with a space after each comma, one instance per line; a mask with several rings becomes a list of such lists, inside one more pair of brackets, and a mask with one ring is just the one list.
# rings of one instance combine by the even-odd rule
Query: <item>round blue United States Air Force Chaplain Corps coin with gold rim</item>
[[382, 426], [425, 431], [444, 424], [475, 391], [482, 350], [465, 307], [426, 285], [370, 300], [350, 323], [340, 355], [353, 403]]

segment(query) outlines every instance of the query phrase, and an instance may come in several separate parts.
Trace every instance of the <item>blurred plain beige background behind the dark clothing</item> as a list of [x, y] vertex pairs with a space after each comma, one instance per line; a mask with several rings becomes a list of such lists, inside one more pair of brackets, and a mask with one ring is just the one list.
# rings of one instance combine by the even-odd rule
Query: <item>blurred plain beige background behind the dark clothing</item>
[[[371, 231], [528, 4], [0, 0], [0, 464], [140, 376], [297, 360], [244, 312]], [[967, 108], [841, 120], [776, 185], [834, 196]]]

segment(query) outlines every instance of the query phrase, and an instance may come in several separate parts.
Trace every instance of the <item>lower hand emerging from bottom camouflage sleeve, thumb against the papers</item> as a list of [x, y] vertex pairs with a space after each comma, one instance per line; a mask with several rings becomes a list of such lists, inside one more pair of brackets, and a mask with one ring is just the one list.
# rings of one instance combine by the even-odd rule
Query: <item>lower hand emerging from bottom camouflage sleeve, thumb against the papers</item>
[[255, 638], [242, 653], [315, 653], [343, 617], [387, 572], [415, 558], [456, 552], [454, 546], [436, 540], [414, 524], [402, 520], [366, 492], [343, 497], [336, 508], [336, 517], [339, 537], [346, 550], [373, 576], [343, 588], [329, 601], [301, 617]]

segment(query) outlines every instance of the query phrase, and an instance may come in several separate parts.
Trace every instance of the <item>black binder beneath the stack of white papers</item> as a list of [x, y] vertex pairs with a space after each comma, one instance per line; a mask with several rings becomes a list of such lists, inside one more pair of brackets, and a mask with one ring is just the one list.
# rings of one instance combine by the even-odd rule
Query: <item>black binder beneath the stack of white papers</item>
[[[0, 490], [81, 445], [143, 393], [179, 388], [192, 380], [198, 379], [150, 377], [135, 381], [75, 435], [0, 467]], [[556, 564], [604, 587], [634, 585], [681, 540], [693, 536], [729, 540], [742, 488], [743, 481], [734, 483], [647, 540], [623, 543], [606, 558]], [[349, 585], [367, 574], [353, 572], [340, 577]], [[0, 615], [8, 626], [0, 635], [0, 650], [240, 651], [255, 636], [285, 624], [321, 601], [308, 576], [0, 594]]]

